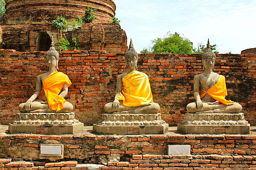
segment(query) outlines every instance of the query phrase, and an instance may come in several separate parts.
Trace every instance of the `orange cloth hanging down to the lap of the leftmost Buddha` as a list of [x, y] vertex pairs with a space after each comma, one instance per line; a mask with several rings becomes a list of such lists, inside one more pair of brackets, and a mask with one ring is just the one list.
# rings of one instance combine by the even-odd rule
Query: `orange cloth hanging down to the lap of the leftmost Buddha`
[[68, 87], [71, 85], [71, 81], [67, 75], [58, 71], [53, 72], [43, 80], [43, 91], [39, 100], [46, 94], [49, 108], [53, 111], [60, 111], [66, 101], [63, 97], [59, 96], [65, 83], [68, 84]]

